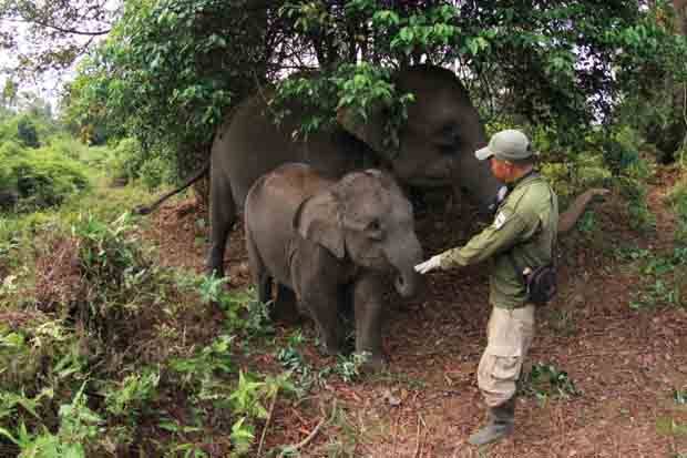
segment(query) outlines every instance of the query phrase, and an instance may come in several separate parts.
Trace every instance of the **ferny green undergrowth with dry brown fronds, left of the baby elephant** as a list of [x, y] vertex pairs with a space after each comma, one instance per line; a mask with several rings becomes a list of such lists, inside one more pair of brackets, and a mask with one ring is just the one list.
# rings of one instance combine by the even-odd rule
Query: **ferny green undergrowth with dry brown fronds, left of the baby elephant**
[[236, 360], [269, 333], [253, 294], [158, 267], [137, 237], [129, 214], [83, 214], [45, 240], [33, 283], [3, 283], [0, 440], [20, 457], [247, 456], [266, 403], [295, 391]]

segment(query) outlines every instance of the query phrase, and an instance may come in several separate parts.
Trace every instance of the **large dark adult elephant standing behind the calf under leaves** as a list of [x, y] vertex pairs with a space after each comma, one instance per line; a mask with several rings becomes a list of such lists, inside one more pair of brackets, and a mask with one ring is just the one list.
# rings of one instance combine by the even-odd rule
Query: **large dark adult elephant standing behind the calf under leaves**
[[[400, 71], [396, 82], [401, 93], [412, 92], [416, 96], [408, 110], [408, 122], [399, 132], [398, 154], [383, 146], [383, 111], [373, 113], [365, 125], [339, 113], [340, 128], [334, 132], [294, 140], [293, 133], [304, 118], [297, 103], [289, 105], [290, 115], [278, 126], [268, 112], [267, 94], [258, 94], [237, 108], [219, 128], [206, 166], [211, 174], [209, 272], [224, 273], [227, 237], [253, 183], [287, 162], [308, 163], [334, 179], [372, 163], [390, 170], [403, 184], [465, 190], [481, 207], [494, 202], [502, 183], [492, 176], [486, 162], [474, 157], [474, 151], [484, 146], [486, 139], [478, 112], [455, 74], [418, 65]], [[206, 170], [139, 212], [148, 213]]]

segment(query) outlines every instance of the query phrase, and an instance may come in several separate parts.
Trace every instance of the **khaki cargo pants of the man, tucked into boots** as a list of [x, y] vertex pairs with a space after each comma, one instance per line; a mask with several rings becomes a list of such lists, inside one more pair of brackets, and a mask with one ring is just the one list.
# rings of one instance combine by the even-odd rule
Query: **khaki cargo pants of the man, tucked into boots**
[[513, 311], [492, 308], [486, 349], [478, 368], [478, 386], [489, 407], [515, 395], [517, 378], [534, 337], [534, 305]]

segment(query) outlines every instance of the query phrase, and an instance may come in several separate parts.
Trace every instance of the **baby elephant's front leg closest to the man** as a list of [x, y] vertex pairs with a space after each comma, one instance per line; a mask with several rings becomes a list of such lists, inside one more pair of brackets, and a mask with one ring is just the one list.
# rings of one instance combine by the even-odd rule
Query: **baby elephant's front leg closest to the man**
[[356, 353], [368, 353], [367, 366], [372, 369], [386, 364], [381, 345], [383, 285], [383, 278], [372, 274], [362, 276], [353, 286]]

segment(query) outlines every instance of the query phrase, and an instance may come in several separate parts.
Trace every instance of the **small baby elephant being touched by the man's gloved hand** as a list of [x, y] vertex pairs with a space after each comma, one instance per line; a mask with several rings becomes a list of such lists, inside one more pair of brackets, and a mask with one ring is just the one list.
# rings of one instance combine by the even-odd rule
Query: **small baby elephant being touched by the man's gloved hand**
[[[383, 366], [386, 276], [394, 274], [396, 289], [408, 297], [419, 282], [413, 266], [422, 261], [412, 205], [396, 182], [378, 170], [335, 181], [289, 163], [255, 182], [244, 220], [259, 299], [271, 299], [273, 279], [295, 292], [328, 354], [341, 348], [338, 312], [352, 299], [356, 352], [369, 353], [372, 368]], [[278, 308], [287, 305], [278, 301], [275, 307], [284, 313]]]

